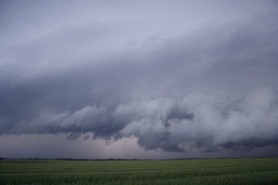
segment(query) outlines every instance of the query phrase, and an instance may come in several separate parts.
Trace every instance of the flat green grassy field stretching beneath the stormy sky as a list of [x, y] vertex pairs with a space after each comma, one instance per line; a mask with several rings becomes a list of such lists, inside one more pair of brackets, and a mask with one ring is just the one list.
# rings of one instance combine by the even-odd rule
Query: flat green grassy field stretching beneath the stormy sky
[[4, 161], [0, 184], [278, 184], [278, 158]]

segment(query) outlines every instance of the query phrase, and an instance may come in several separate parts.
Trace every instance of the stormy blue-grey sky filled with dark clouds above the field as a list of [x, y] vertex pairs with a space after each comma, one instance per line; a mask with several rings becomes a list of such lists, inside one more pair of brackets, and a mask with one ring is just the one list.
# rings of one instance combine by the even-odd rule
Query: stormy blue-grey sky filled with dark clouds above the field
[[278, 1], [0, 1], [0, 157], [278, 156]]

